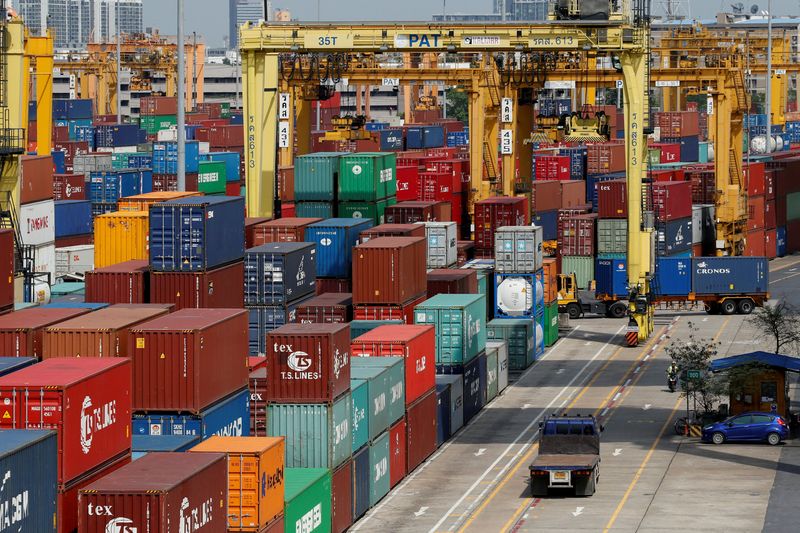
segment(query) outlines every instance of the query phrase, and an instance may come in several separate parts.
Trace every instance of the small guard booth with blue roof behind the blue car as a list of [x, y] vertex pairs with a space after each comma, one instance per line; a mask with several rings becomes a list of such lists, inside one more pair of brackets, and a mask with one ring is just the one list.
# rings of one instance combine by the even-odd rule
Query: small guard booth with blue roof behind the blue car
[[788, 419], [791, 403], [786, 373], [800, 372], [800, 358], [769, 352], [751, 352], [717, 359], [711, 363], [711, 371], [725, 372], [753, 364], [762, 365], [763, 368], [754, 369], [738, 390], [731, 390], [730, 414], [737, 415], [747, 411], [769, 413], [775, 410]]

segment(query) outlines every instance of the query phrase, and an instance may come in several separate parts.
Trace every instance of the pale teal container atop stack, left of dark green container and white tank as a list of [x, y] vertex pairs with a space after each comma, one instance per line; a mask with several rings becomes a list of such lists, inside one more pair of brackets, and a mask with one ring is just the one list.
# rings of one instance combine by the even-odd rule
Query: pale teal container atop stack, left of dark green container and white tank
[[486, 349], [482, 294], [437, 294], [414, 308], [414, 323], [436, 328], [437, 365], [463, 365]]

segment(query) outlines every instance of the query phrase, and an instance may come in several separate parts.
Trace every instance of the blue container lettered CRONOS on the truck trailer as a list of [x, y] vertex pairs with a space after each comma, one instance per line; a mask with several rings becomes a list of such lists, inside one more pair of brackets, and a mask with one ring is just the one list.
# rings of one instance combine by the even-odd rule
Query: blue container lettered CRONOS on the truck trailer
[[697, 257], [692, 259], [695, 294], [762, 294], [769, 290], [766, 257]]

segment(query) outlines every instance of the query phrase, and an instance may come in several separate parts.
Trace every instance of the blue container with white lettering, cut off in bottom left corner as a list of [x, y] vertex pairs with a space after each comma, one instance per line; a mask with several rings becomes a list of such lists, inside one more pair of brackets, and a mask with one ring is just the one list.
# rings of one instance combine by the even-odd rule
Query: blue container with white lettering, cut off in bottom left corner
[[0, 529], [55, 529], [59, 451], [55, 431], [0, 431]]

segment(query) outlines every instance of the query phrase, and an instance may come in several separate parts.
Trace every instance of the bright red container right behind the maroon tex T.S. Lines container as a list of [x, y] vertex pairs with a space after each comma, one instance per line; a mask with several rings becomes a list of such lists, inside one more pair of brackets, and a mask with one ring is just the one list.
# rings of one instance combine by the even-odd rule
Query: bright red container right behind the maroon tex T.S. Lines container
[[436, 333], [433, 326], [378, 326], [350, 345], [353, 357], [403, 357], [406, 405], [436, 388]]

